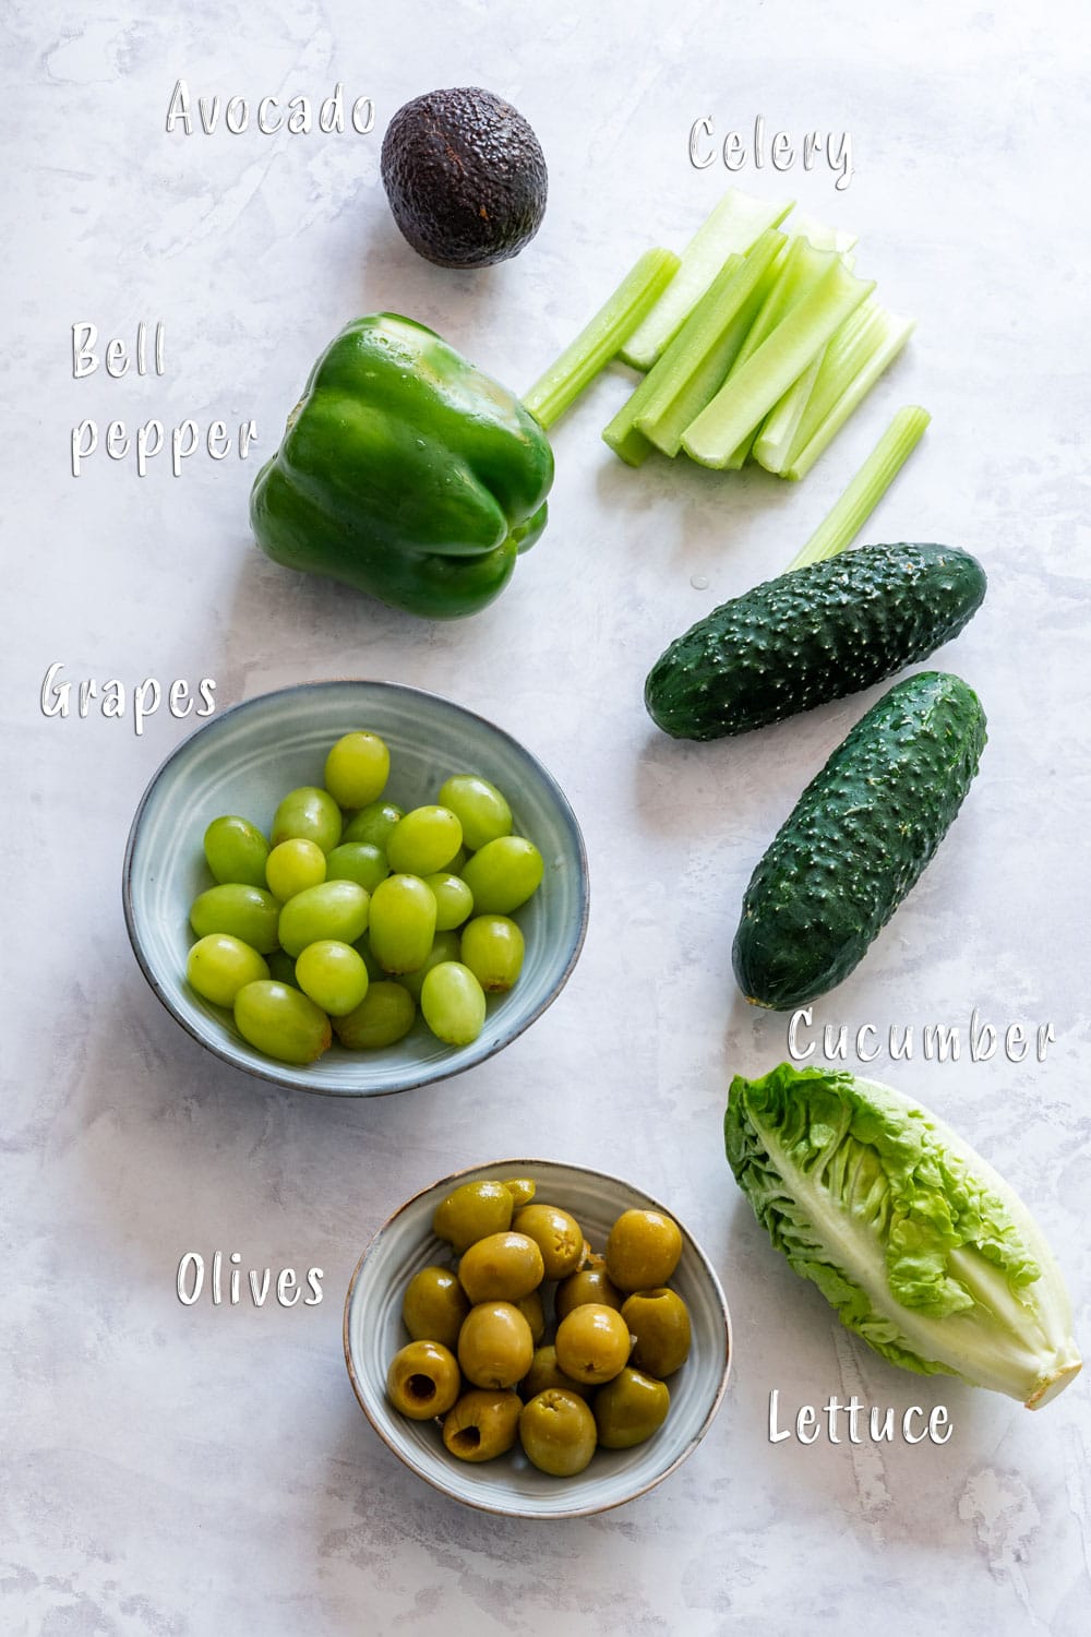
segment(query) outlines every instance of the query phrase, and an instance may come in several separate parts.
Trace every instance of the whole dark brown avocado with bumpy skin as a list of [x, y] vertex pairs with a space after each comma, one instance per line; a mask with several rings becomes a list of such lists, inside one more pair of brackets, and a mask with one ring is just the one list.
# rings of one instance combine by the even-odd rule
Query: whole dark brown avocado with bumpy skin
[[383, 138], [383, 187], [404, 237], [440, 267], [519, 255], [546, 206], [546, 164], [523, 116], [478, 85], [429, 92]]

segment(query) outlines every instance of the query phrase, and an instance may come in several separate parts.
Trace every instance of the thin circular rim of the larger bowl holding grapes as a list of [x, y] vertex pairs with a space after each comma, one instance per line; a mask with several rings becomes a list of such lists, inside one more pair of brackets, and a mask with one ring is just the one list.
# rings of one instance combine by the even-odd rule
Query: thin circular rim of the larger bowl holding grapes
[[[566, 818], [568, 827], [571, 828], [572, 840], [576, 843], [576, 859], [579, 871], [579, 925], [576, 928], [576, 941], [572, 945], [572, 953], [564, 966], [564, 971], [556, 979], [553, 989], [541, 1000], [541, 1003], [535, 1007], [519, 1023], [515, 1030], [505, 1033], [501, 1039], [497, 1039], [492, 1046], [489, 1046], [487, 1051], [481, 1051], [476, 1056], [471, 1054], [466, 1062], [460, 1062], [456, 1067], [443, 1067], [440, 1061], [438, 1064], [433, 1064], [429, 1072], [414, 1074], [412, 1077], [402, 1079], [397, 1085], [383, 1087], [381, 1090], [370, 1090], [370, 1089], [352, 1090], [352, 1089], [337, 1089], [332, 1085], [308, 1085], [301, 1076], [291, 1072], [291, 1064], [283, 1066], [285, 1072], [276, 1072], [272, 1067], [265, 1069], [257, 1064], [237, 1062], [236, 1058], [232, 1058], [227, 1051], [224, 1051], [218, 1041], [201, 1035], [201, 1031], [195, 1028], [193, 1023], [186, 1017], [183, 1017], [180, 1010], [177, 1010], [170, 997], [170, 992], [159, 982], [144, 953], [142, 935], [139, 931], [137, 917], [132, 907], [132, 858], [136, 851], [137, 835], [141, 830], [141, 822], [144, 818], [144, 809], [147, 807], [152, 792], [155, 791], [155, 786], [164, 778], [167, 769], [180, 756], [186, 755], [193, 742], [213, 728], [221, 728], [221, 725], [229, 717], [237, 717], [242, 712], [254, 710], [258, 706], [268, 706], [270, 701], [286, 699], [288, 696], [309, 692], [311, 689], [319, 691], [326, 688], [345, 688], [345, 686], [383, 688], [389, 689], [391, 692], [407, 694], [414, 699], [429, 699], [438, 702], [447, 709], [456, 710], [460, 715], [469, 717], [471, 720], [481, 724], [489, 732], [505, 740], [522, 756], [527, 756], [535, 764], [543, 782], [546, 784], [551, 796], [558, 802], [558, 807], [563, 817]], [[147, 781], [144, 794], [141, 796], [136, 812], [132, 815], [132, 823], [129, 825], [129, 835], [124, 846], [124, 861], [121, 868], [121, 905], [124, 910], [124, 928], [129, 936], [129, 945], [132, 946], [132, 954], [136, 956], [137, 966], [141, 967], [141, 972], [144, 974], [149, 989], [160, 1002], [160, 1005], [170, 1013], [175, 1023], [178, 1023], [186, 1031], [186, 1035], [190, 1035], [191, 1039], [195, 1039], [200, 1046], [203, 1046], [206, 1051], [211, 1051], [213, 1056], [219, 1058], [221, 1062], [226, 1062], [239, 1074], [252, 1074], [255, 1079], [268, 1080], [273, 1085], [283, 1085], [293, 1092], [306, 1092], [311, 1097], [373, 1098], [373, 1097], [394, 1097], [399, 1092], [411, 1092], [420, 1085], [433, 1085], [440, 1080], [455, 1079], [455, 1076], [465, 1074], [468, 1069], [474, 1069], [479, 1062], [487, 1062], [489, 1058], [494, 1058], [505, 1046], [510, 1046], [514, 1039], [519, 1039], [519, 1036], [523, 1035], [532, 1023], [537, 1023], [541, 1013], [553, 1005], [556, 997], [568, 984], [569, 977], [572, 976], [572, 969], [576, 967], [576, 963], [584, 948], [584, 940], [587, 936], [587, 918], [590, 912], [590, 882], [587, 869], [587, 848], [584, 845], [582, 830], [579, 828], [579, 820], [576, 818], [576, 814], [572, 810], [568, 796], [561, 789], [556, 778], [545, 766], [545, 763], [533, 753], [533, 750], [528, 750], [527, 745], [522, 743], [522, 740], [515, 738], [514, 733], [509, 733], [507, 728], [499, 727], [496, 722], [489, 720], [489, 717], [481, 715], [479, 710], [471, 710], [468, 706], [460, 704], [456, 699], [450, 699], [447, 694], [437, 694], [427, 688], [415, 688], [412, 683], [391, 683], [375, 676], [324, 676], [324, 678], [312, 678], [311, 681], [306, 683], [290, 683], [286, 688], [273, 688], [265, 694], [255, 694], [252, 699], [239, 699], [234, 706], [227, 706], [224, 710], [218, 710], [213, 717], [209, 717], [208, 722], [203, 722], [200, 727], [195, 727], [191, 733], [186, 733], [186, 737], [178, 745], [175, 745], [175, 748], [168, 751], [167, 756], [164, 756], [164, 760], [159, 763], [150, 779]]]

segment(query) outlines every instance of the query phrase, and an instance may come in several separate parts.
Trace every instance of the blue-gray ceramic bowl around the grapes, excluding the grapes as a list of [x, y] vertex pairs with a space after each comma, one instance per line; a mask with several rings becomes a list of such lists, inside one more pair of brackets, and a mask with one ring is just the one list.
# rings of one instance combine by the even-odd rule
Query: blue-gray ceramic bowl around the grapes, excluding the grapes
[[[396, 1046], [363, 1053], [334, 1043], [317, 1062], [294, 1067], [249, 1046], [231, 1012], [186, 984], [190, 905], [213, 884], [201, 846], [206, 825], [219, 814], [242, 814], [268, 832], [281, 796], [321, 784], [329, 746], [355, 728], [370, 728], [389, 745], [386, 794], [406, 809], [433, 802], [453, 773], [478, 773], [497, 784], [512, 804], [517, 832], [538, 846], [545, 879], [517, 912], [527, 940], [519, 982], [489, 997], [473, 1044], [445, 1046], [417, 1020]], [[587, 928], [587, 858], [556, 781], [484, 717], [397, 683], [303, 683], [224, 710], [167, 758], [132, 820], [123, 897], [144, 976], [172, 1017], [218, 1058], [304, 1092], [381, 1097], [483, 1062], [556, 999]]]

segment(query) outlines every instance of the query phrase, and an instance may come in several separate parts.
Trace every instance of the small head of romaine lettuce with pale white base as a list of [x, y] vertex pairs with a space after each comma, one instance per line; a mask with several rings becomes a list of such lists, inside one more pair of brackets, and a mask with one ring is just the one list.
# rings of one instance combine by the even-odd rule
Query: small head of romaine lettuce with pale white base
[[1021, 1398], [1080, 1372], [1068, 1292], [1026, 1205], [919, 1103], [780, 1064], [736, 1076], [728, 1161], [769, 1238], [891, 1364]]

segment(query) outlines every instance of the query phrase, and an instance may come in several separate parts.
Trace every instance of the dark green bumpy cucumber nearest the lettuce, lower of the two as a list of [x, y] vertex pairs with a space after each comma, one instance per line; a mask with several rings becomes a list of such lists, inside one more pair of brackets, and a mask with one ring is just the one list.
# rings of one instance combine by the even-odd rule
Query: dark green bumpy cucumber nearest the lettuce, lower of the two
[[860, 717], [777, 832], [731, 951], [748, 1000], [788, 1010], [842, 982], [947, 833], [985, 748], [985, 712], [944, 671]]

